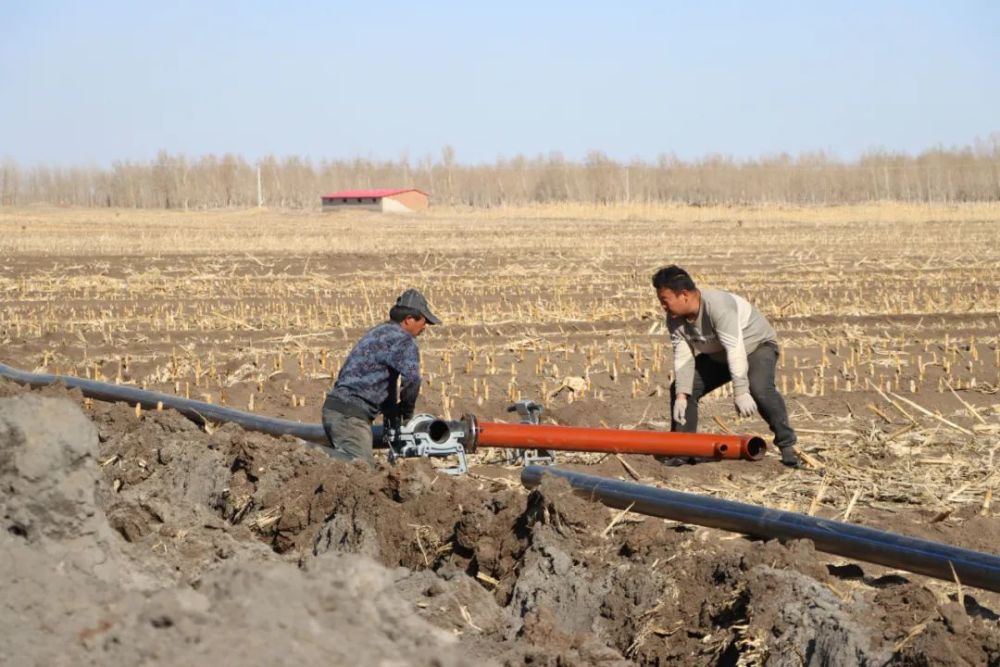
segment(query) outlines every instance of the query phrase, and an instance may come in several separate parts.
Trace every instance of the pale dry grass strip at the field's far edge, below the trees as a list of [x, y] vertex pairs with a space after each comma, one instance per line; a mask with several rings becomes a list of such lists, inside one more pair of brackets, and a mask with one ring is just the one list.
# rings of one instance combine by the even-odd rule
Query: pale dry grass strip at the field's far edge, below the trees
[[[542, 249], [575, 253], [580, 235], [614, 233], [634, 252], [648, 244], [682, 253], [704, 249], [707, 240], [728, 238], [734, 225], [750, 238], [765, 235], [775, 250], [796, 247], [795, 232], [842, 244], [855, 241], [887, 249], [901, 238], [926, 234], [944, 254], [957, 234], [989, 235], [1000, 219], [1000, 204], [882, 205], [802, 208], [691, 207], [561, 204], [524, 208], [432, 208], [408, 216], [364, 213], [322, 214], [268, 209], [180, 212], [144, 209], [70, 209], [37, 206], [0, 208], [0, 254], [31, 256], [148, 256], [190, 254], [338, 254], [368, 252], [433, 253], [467, 250], [472, 234], [497, 250]], [[539, 230], [539, 222], [559, 221], [559, 230]], [[648, 224], [656, 223], [650, 228]], [[985, 223], [985, 224], [984, 224]], [[539, 233], [541, 231], [542, 233]], [[688, 239], [697, 232], [701, 238]], [[785, 240], [787, 233], [792, 233]], [[650, 234], [652, 233], [652, 237]], [[706, 238], [707, 237], [707, 238]], [[638, 246], [636, 245], [638, 244]], [[974, 248], [968, 240], [963, 247]], [[594, 246], [584, 248], [594, 250]], [[652, 248], [650, 248], [652, 249]], [[607, 248], [613, 252], [614, 248]], [[640, 255], [641, 256], [641, 255]], [[883, 256], [884, 257], [884, 256]]]

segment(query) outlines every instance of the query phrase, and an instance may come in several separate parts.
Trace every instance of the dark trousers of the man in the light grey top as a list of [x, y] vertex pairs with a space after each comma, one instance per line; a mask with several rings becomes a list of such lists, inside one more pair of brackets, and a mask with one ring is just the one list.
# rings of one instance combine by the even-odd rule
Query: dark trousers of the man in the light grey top
[[[774, 433], [774, 444], [777, 447], [790, 447], [797, 437], [788, 423], [788, 409], [785, 399], [774, 386], [774, 369], [778, 364], [778, 346], [774, 343], [764, 343], [747, 357], [750, 380], [750, 395], [757, 403], [757, 410]], [[674, 398], [676, 383], [670, 385], [670, 430], [680, 433], [696, 433], [698, 431], [698, 401], [733, 378], [729, 374], [729, 365], [725, 361], [717, 361], [707, 354], [699, 354], [694, 358], [694, 388], [688, 396], [687, 411], [684, 425], [673, 421]]]

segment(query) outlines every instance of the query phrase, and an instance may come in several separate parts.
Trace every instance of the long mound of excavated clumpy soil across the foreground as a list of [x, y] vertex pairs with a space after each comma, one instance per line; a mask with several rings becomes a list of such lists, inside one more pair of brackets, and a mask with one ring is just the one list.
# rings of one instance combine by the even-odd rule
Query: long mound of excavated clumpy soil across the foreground
[[561, 480], [369, 471], [172, 412], [3, 395], [0, 663], [1000, 661], [993, 597], [808, 542], [606, 530], [615, 513]]

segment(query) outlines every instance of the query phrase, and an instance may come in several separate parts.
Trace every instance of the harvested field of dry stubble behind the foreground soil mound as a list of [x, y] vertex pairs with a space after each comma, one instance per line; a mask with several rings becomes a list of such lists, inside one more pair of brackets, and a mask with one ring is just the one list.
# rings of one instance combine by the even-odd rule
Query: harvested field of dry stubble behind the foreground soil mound
[[[0, 209], [0, 256], [0, 359], [16, 366], [315, 421], [353, 340], [418, 286], [445, 320], [421, 341], [422, 410], [507, 419], [525, 397], [640, 428], [666, 427], [648, 281], [676, 262], [775, 324], [779, 386], [826, 472], [749, 498], [738, 482], [692, 490], [848, 518], [996, 511], [997, 205]], [[703, 428], [765, 428], [733, 421], [725, 392], [705, 411]]]

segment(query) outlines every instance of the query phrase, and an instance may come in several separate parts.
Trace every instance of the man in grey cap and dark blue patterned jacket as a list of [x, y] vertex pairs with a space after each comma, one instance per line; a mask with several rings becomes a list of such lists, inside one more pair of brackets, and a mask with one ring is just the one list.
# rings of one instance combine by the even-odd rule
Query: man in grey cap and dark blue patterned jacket
[[[375, 465], [372, 422], [409, 421], [420, 394], [420, 353], [416, 337], [428, 324], [440, 324], [415, 289], [403, 292], [389, 310], [389, 321], [369, 329], [347, 355], [323, 403], [323, 430], [342, 460]], [[399, 396], [396, 385], [399, 380]]]

